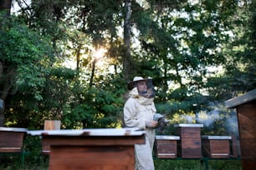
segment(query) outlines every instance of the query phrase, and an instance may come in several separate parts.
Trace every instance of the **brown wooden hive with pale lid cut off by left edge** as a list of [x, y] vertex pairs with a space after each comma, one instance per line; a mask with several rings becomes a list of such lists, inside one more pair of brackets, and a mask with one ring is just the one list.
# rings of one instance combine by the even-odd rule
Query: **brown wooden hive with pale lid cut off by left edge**
[[20, 153], [26, 134], [26, 128], [0, 127], [0, 153]]

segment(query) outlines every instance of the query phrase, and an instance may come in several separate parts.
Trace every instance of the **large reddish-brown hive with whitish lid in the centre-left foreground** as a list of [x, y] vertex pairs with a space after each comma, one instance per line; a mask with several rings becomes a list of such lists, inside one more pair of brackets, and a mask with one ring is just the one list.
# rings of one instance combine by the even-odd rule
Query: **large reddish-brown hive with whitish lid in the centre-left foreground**
[[49, 170], [134, 170], [135, 145], [146, 143], [137, 128], [28, 131], [49, 144]]

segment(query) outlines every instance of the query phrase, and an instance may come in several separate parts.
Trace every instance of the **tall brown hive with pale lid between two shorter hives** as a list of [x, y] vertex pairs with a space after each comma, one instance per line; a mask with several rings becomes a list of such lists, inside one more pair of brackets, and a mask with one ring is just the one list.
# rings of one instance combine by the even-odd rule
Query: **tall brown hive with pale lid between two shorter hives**
[[201, 128], [202, 124], [176, 124], [178, 141], [178, 156], [181, 158], [201, 158]]

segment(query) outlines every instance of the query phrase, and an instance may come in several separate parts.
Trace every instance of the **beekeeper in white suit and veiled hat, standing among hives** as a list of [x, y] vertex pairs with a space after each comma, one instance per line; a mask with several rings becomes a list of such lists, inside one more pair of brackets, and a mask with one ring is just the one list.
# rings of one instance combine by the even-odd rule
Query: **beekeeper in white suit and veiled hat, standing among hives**
[[134, 77], [128, 83], [131, 90], [125, 102], [124, 121], [129, 128], [140, 128], [146, 131], [146, 144], [135, 145], [136, 170], [154, 170], [152, 151], [155, 142], [157, 122], [153, 120], [156, 113], [154, 87], [152, 79]]

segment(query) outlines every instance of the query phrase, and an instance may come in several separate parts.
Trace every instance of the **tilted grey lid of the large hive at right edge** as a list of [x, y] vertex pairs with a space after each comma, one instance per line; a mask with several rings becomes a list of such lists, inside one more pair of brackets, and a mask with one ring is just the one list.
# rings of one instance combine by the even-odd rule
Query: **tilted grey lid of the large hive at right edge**
[[256, 89], [244, 93], [242, 96], [233, 97], [225, 102], [227, 108], [233, 108], [245, 102], [256, 100]]

